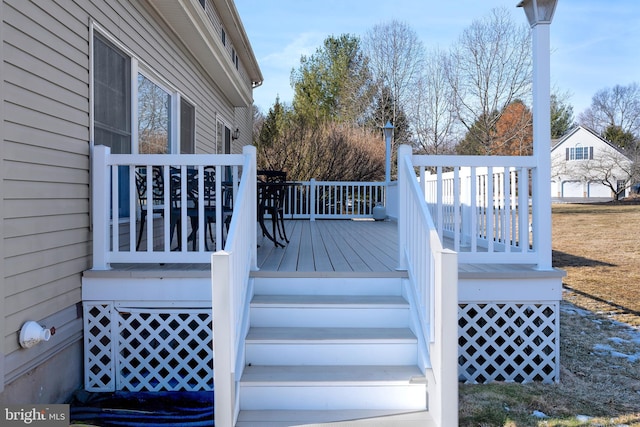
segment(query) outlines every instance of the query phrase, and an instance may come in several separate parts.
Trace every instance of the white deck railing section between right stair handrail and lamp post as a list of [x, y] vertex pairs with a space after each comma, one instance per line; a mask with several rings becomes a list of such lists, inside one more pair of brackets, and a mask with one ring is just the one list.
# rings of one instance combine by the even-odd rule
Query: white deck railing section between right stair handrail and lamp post
[[438, 234], [461, 263], [537, 264], [533, 157], [414, 156]]

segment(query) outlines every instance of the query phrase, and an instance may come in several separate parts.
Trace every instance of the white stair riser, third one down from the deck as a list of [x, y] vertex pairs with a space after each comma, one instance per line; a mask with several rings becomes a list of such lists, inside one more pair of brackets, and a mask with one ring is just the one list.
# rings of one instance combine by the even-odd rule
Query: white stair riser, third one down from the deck
[[415, 343], [247, 343], [253, 365], [415, 365]]

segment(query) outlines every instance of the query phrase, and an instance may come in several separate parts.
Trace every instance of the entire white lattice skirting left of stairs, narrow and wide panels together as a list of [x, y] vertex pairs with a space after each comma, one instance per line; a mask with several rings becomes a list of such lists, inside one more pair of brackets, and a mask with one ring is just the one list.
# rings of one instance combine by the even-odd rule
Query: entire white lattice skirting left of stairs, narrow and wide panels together
[[88, 391], [213, 390], [211, 309], [84, 305]]

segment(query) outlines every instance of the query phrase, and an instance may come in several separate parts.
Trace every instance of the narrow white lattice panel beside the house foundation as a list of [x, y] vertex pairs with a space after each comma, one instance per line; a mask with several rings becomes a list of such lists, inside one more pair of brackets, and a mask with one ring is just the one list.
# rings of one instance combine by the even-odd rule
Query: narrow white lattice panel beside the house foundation
[[84, 305], [84, 384], [89, 391], [114, 391], [113, 341], [109, 303]]

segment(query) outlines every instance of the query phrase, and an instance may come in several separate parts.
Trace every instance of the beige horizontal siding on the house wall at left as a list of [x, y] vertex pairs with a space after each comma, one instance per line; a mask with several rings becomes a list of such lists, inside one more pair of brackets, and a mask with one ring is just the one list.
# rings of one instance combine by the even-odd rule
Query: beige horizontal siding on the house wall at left
[[[216, 117], [250, 143], [250, 116], [238, 114], [250, 108], [225, 99], [146, 1], [2, 0], [0, 11], [0, 402], [51, 403], [82, 385], [81, 367], [60, 361], [81, 360], [81, 278], [91, 266], [91, 23], [195, 105], [196, 152], [215, 152]], [[21, 349], [27, 320], [56, 333]], [[44, 366], [66, 367], [49, 381]]]

